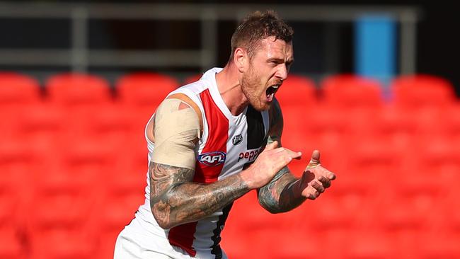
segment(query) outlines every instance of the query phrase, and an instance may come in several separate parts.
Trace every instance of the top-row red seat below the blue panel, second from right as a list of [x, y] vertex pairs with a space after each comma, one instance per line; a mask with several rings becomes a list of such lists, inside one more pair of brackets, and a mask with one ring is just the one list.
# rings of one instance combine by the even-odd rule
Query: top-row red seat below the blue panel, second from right
[[324, 101], [338, 108], [374, 109], [383, 104], [379, 81], [362, 76], [329, 76], [323, 79], [321, 89]]

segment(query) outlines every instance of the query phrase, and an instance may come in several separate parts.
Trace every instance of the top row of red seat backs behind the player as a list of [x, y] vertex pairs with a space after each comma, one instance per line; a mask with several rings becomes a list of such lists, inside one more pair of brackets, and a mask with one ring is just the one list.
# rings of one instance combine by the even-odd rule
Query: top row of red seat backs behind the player
[[[189, 83], [199, 76], [185, 79]], [[33, 103], [40, 96], [40, 84], [30, 76], [16, 73], [0, 73], [0, 105]], [[164, 74], [136, 73], [121, 76], [115, 82], [115, 91], [123, 103], [137, 107], [155, 105], [167, 93], [180, 86], [177, 79]], [[328, 105], [339, 107], [377, 108], [384, 103], [379, 81], [356, 75], [328, 76], [320, 84], [323, 99]], [[302, 102], [316, 103], [317, 87], [314, 81], [299, 75], [291, 75], [277, 94], [286, 105]], [[437, 76], [401, 76], [390, 86], [398, 105], [420, 107], [425, 105], [449, 105], [456, 100], [449, 81]], [[55, 103], [85, 105], [110, 100], [110, 84], [100, 76], [90, 74], [57, 74], [45, 82], [46, 97]], [[299, 98], [301, 96], [301, 98]]]

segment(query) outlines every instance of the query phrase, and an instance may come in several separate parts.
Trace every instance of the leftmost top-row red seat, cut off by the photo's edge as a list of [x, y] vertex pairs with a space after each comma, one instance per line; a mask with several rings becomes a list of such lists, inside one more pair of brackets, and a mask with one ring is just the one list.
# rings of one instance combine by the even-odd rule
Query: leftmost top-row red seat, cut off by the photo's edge
[[0, 72], [0, 107], [25, 105], [38, 100], [40, 84], [36, 79], [15, 72]]

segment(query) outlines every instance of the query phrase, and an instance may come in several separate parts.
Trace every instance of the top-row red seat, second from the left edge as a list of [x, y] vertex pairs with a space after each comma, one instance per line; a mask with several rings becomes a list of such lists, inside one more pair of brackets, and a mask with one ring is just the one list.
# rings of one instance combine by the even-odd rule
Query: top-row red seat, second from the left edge
[[66, 108], [94, 108], [111, 100], [108, 81], [96, 75], [57, 74], [50, 76], [45, 86], [52, 103]]

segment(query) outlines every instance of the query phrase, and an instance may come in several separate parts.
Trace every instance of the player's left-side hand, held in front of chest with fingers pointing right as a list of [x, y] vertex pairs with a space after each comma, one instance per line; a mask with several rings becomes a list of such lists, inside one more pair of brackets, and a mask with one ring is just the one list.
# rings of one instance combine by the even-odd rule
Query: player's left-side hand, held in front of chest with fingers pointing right
[[257, 189], [268, 184], [292, 159], [300, 159], [302, 155], [301, 152], [277, 146], [277, 141], [265, 146], [264, 151], [259, 154], [254, 163], [241, 172], [241, 178], [246, 182], [248, 188]]

